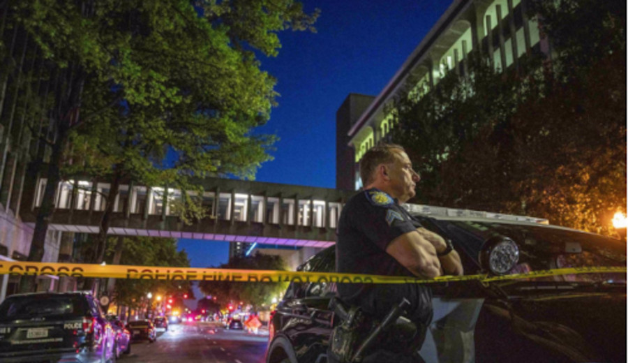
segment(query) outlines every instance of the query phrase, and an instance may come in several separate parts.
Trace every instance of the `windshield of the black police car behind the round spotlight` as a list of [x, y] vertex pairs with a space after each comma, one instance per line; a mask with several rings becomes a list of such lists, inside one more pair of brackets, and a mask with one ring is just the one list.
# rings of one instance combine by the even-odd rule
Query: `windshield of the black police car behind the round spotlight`
[[[519, 247], [519, 264], [511, 274], [569, 267], [625, 267], [626, 246], [588, 232], [547, 225], [454, 221], [450, 232], [463, 237], [464, 248], [479, 251], [481, 243], [495, 235], [510, 237]], [[477, 252], [475, 252], [477, 255]], [[624, 273], [565, 274], [534, 281], [626, 283]]]

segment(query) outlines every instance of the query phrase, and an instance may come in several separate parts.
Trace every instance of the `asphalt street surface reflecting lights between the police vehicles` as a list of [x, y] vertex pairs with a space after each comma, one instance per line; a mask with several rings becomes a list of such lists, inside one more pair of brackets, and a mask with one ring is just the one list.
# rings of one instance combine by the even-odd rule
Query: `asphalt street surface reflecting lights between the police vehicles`
[[142, 363], [262, 363], [267, 334], [228, 330], [216, 323], [181, 323], [158, 332], [157, 341], [131, 345], [130, 355], [120, 362]]

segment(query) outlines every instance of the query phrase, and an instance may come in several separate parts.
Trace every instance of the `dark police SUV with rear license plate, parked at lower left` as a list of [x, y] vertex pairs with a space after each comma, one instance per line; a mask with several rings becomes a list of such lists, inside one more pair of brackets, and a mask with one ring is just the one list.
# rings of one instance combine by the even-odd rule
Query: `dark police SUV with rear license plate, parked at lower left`
[[115, 362], [115, 345], [87, 292], [17, 294], [0, 304], [0, 362]]

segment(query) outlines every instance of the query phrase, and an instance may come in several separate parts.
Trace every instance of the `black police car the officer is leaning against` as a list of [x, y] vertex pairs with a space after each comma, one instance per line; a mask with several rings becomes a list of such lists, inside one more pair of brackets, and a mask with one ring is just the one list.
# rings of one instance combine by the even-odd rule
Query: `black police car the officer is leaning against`
[[[466, 275], [626, 267], [626, 245], [537, 218], [412, 206], [451, 239]], [[417, 214], [419, 212], [419, 214]], [[428, 217], [429, 216], [429, 217]], [[329, 247], [297, 270], [333, 272]], [[426, 362], [626, 362], [626, 274], [567, 274], [432, 284]], [[267, 363], [325, 363], [338, 317], [334, 283], [292, 283], [269, 323]]]

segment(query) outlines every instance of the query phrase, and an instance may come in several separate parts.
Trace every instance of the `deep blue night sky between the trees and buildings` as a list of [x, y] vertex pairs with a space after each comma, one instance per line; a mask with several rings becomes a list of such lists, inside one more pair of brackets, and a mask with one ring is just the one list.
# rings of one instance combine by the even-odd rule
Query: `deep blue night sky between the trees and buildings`
[[[308, 13], [320, 8], [317, 33], [283, 31], [278, 57], [260, 59], [281, 96], [256, 132], [281, 140], [256, 180], [335, 188], [336, 110], [350, 93], [377, 96], [452, 1], [301, 2]], [[179, 239], [192, 267], [227, 262], [228, 244]]]

